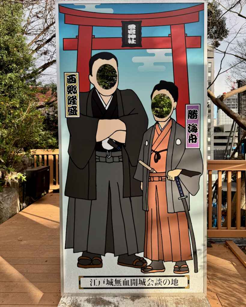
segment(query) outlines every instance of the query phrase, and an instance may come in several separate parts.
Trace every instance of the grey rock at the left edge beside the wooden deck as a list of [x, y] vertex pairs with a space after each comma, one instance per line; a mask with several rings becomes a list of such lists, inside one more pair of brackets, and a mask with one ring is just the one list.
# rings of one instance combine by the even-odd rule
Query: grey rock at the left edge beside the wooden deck
[[0, 193], [0, 224], [20, 211], [19, 194], [15, 188], [3, 188]]

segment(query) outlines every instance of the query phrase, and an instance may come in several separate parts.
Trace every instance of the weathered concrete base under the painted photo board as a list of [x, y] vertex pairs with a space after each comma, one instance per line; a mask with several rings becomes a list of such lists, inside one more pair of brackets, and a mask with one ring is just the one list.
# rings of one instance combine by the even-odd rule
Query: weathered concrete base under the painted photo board
[[58, 307], [211, 307], [206, 296], [63, 296]]

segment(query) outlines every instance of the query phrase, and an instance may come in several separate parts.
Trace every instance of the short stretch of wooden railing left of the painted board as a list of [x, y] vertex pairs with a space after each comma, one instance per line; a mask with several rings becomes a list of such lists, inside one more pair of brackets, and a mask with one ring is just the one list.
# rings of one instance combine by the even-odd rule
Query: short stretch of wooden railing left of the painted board
[[50, 166], [50, 190], [59, 189], [59, 149], [33, 149], [34, 167]]

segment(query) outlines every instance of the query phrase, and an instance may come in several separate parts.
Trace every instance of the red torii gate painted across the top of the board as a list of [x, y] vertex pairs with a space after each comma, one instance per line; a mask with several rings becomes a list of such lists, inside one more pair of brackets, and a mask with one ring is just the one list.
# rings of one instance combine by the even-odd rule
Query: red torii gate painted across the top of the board
[[[59, 5], [65, 14], [65, 23], [78, 25], [76, 38], [64, 38], [63, 50], [77, 50], [77, 72], [80, 91], [90, 90], [89, 59], [92, 50], [116, 49], [172, 49], [174, 83], [179, 88], [177, 122], [185, 126], [185, 104], [189, 103], [188, 67], [186, 48], [201, 48], [200, 36], [187, 36], [185, 24], [199, 21], [204, 4], [185, 9], [149, 14], [104, 14], [70, 9]], [[121, 21], [139, 21], [142, 27], [170, 25], [168, 37], [142, 37], [142, 47], [121, 47], [121, 37], [94, 37], [93, 26], [122, 27]]]

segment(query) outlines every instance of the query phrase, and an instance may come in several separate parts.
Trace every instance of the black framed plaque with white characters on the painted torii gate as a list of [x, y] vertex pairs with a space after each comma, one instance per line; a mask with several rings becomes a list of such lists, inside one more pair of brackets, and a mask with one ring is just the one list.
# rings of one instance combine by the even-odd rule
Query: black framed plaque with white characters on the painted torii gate
[[122, 22], [122, 47], [142, 47], [142, 21], [121, 21]]

